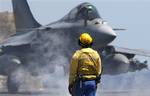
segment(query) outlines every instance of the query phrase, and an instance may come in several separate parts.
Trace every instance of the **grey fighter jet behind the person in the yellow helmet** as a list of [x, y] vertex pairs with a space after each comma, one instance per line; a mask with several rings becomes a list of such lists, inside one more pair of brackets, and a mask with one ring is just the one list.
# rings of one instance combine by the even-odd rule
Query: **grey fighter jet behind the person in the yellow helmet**
[[150, 53], [108, 45], [116, 38], [115, 31], [123, 29], [107, 25], [90, 3], [78, 5], [62, 19], [45, 26], [33, 18], [26, 0], [12, 0], [12, 3], [17, 32], [0, 44], [0, 73], [8, 76], [10, 92], [18, 90], [13, 73], [20, 67], [36, 75], [45, 69], [53, 72], [56, 65], [67, 71], [69, 62], [65, 61], [79, 48], [77, 42], [82, 32], [94, 38], [93, 47], [101, 54], [103, 74], [147, 68], [147, 62], [135, 60], [134, 56], [150, 56]]

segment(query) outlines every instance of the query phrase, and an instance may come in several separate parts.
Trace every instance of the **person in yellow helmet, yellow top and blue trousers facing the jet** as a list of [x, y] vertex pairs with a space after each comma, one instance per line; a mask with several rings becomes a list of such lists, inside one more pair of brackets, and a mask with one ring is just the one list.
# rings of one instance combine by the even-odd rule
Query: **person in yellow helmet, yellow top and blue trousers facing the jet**
[[97, 84], [101, 77], [101, 58], [91, 48], [93, 39], [88, 33], [79, 37], [80, 50], [71, 60], [69, 74], [69, 92], [72, 96], [95, 96]]

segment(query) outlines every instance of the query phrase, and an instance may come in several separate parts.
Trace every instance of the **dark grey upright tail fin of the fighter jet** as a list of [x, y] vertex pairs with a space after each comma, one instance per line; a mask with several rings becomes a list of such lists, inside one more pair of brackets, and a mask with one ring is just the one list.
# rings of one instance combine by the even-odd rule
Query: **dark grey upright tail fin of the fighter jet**
[[34, 19], [27, 0], [12, 0], [16, 31], [37, 28], [41, 25]]

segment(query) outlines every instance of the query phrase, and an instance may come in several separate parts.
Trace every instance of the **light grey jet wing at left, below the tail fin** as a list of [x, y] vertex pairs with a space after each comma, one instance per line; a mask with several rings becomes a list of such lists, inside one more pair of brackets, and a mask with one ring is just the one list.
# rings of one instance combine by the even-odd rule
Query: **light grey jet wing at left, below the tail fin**
[[12, 35], [8, 39], [0, 43], [0, 48], [7, 47], [7, 46], [20, 46], [20, 45], [30, 44], [33, 41], [33, 39], [37, 38], [39, 32], [44, 32], [46, 30], [50, 31], [51, 29], [52, 28], [50, 26], [48, 27], [43, 26], [39, 28], [26, 29], [26, 30], [30, 30], [29, 32], [26, 31], [17, 32], [16, 34]]

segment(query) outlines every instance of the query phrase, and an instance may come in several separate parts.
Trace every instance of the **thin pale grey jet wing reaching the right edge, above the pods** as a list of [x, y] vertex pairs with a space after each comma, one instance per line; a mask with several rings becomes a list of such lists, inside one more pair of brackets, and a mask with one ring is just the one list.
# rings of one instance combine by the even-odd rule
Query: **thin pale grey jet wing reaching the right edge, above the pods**
[[125, 54], [133, 54], [133, 55], [141, 55], [150, 57], [150, 51], [143, 50], [143, 49], [130, 49], [130, 48], [123, 48], [118, 46], [113, 46], [116, 53], [125, 53]]

